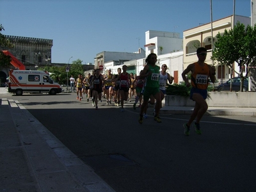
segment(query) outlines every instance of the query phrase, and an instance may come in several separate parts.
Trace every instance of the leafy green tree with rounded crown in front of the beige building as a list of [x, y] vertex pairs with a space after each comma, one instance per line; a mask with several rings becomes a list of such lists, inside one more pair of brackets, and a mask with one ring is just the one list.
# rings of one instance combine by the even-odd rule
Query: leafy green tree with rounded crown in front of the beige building
[[[256, 27], [247, 26], [237, 22], [234, 29], [225, 29], [223, 35], [216, 35], [217, 42], [212, 51], [212, 60], [218, 61], [221, 65], [227, 65], [234, 70], [234, 62], [239, 66], [239, 71], [234, 70], [241, 77], [241, 92], [243, 82], [248, 76], [250, 67], [256, 65]], [[245, 76], [243, 72], [245, 70]]]

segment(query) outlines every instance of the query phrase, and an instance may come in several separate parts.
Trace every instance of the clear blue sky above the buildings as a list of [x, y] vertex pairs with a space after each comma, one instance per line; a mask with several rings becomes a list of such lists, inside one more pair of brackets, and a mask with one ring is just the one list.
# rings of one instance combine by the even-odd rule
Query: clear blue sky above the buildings
[[[234, 0], [212, 0], [212, 18], [233, 14]], [[236, 15], [250, 17], [250, 0]], [[102, 51], [135, 52], [145, 32], [183, 31], [211, 22], [210, 0], [1, 0], [4, 35], [53, 40], [52, 63], [94, 63]]]

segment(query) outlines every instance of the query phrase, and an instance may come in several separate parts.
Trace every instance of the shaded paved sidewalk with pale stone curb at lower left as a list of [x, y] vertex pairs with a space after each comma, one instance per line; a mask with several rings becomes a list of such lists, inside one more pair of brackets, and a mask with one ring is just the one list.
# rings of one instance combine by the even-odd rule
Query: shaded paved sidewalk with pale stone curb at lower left
[[18, 101], [0, 114], [0, 191], [114, 191]]

